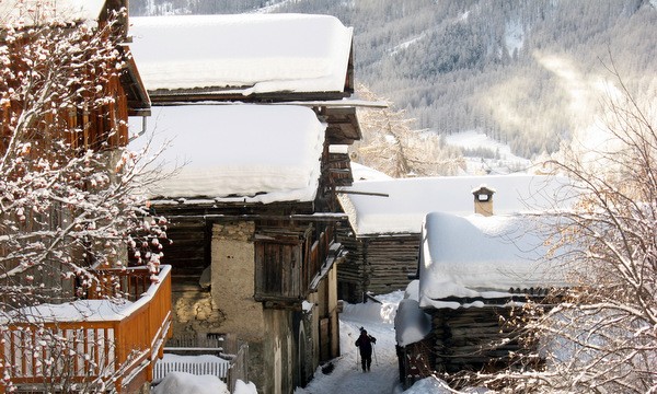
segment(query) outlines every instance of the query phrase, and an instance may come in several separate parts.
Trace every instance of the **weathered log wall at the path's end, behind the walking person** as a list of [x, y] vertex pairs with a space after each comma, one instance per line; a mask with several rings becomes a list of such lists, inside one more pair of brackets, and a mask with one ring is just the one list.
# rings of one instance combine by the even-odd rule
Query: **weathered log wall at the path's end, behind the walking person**
[[342, 300], [362, 302], [368, 292], [404, 290], [417, 271], [419, 234], [357, 239], [343, 230], [338, 241], [348, 252], [337, 269]]

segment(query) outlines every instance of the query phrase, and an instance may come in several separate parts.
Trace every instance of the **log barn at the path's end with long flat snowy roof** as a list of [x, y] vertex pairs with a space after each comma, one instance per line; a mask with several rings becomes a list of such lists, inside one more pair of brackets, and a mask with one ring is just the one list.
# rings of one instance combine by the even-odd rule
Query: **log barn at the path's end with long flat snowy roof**
[[341, 188], [339, 202], [349, 228], [339, 232], [348, 254], [338, 266], [338, 297], [362, 302], [367, 294], [405, 289], [416, 277], [425, 215], [472, 215], [479, 209], [472, 192], [482, 184], [497, 190], [495, 211], [509, 213], [545, 206], [563, 179], [529, 174], [372, 178]]

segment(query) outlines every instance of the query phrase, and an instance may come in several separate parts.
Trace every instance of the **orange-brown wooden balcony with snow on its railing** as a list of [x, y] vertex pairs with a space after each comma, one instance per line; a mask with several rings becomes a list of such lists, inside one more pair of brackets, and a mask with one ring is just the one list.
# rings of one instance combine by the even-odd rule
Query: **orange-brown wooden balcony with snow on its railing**
[[[170, 274], [102, 270], [87, 300], [24, 309], [21, 323], [0, 328], [0, 375], [28, 390], [137, 392], [171, 337]], [[119, 292], [126, 302], [113, 301]]]

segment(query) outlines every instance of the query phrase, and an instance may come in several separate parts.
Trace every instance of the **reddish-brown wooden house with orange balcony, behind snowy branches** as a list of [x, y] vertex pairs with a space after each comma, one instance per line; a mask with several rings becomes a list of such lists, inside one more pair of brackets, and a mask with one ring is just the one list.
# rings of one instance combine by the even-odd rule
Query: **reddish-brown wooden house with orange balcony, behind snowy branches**
[[[24, 175], [20, 166], [11, 165], [11, 160], [13, 163], [19, 162], [15, 158], [7, 159], [12, 158], [12, 149], [15, 150], [16, 141], [31, 147], [24, 150], [21, 157], [21, 163], [25, 164], [24, 171], [33, 170], [30, 164], [35, 161], [39, 162], [42, 170], [57, 169], [67, 165], [74, 158], [93, 152], [93, 158], [97, 159], [99, 163], [93, 170], [90, 165], [90, 171], [95, 171], [94, 174], [99, 176], [104, 174], [99, 169], [111, 169], [108, 172], [112, 175], [116, 173], [114, 169], [120, 158], [117, 152], [126, 147], [129, 140], [128, 117], [150, 114], [149, 96], [136, 63], [129, 56], [125, 35], [127, 16], [120, 16], [117, 21], [111, 20], [110, 16], [112, 12], [122, 8], [127, 8], [127, 1], [82, 3], [60, 0], [55, 4], [7, 0], [0, 3], [2, 28], [15, 28], [13, 36], [7, 31], [0, 36], [0, 44], [5, 48], [3, 55], [7, 55], [3, 57], [3, 68], [11, 70], [0, 78], [3, 189], [9, 183], [18, 182]], [[87, 30], [88, 26], [92, 28]], [[74, 36], [74, 32], [89, 32], [87, 37], [104, 37], [106, 50], [117, 54], [112, 63], [108, 65], [107, 58], [106, 62], [92, 65], [90, 61], [88, 65], [81, 65], [83, 61], [74, 60], [74, 56], [81, 57], [84, 49], [74, 48], [73, 45], [67, 47], [66, 55], [59, 53], [60, 57], [55, 58], [54, 54], [57, 51], [48, 45], [67, 43], [69, 36]], [[20, 39], [8, 38], [19, 34], [22, 34]], [[53, 37], [62, 42], [58, 43]], [[48, 54], [53, 58], [39, 59], [43, 62], [37, 61], [30, 66], [25, 59], [30, 59], [30, 51], [39, 45], [44, 48], [42, 54]], [[100, 49], [92, 55], [100, 58], [99, 53]], [[110, 72], [114, 65], [124, 66], [117, 68], [116, 72]], [[106, 68], [106, 74], [97, 69], [92, 70], [92, 66], [99, 69]], [[34, 74], [30, 76], [27, 70]], [[27, 76], [30, 80], [25, 83]], [[48, 78], [39, 79], [36, 76]], [[51, 85], [49, 89], [49, 83], [61, 83], [58, 81], [62, 79], [71, 83], [70, 91], [67, 91], [68, 88]], [[81, 85], [91, 85], [96, 92], [102, 92], [100, 94], [104, 104], [89, 104], [97, 97], [89, 91], [80, 94]], [[39, 97], [47, 99], [43, 102], [33, 101], [31, 94], [36, 95], [35, 92], [38, 92]], [[39, 106], [42, 104], [43, 106]], [[21, 124], [23, 119], [31, 121]], [[38, 170], [34, 170], [33, 173], [38, 173]], [[34, 186], [30, 181], [25, 183]], [[57, 182], [53, 184], [60, 186]], [[81, 188], [87, 190], [91, 187], [84, 184]], [[56, 186], [44, 187], [48, 188], [51, 192]], [[72, 196], [73, 190], [70, 193]], [[3, 192], [3, 208], [9, 207], [5, 205], [7, 197], [7, 192]], [[0, 373], [4, 376], [0, 392], [147, 392], [148, 383], [152, 380], [153, 364], [162, 357], [163, 343], [170, 334], [170, 267], [160, 266], [151, 270], [145, 266], [124, 266], [123, 269], [105, 266], [114, 263], [113, 260], [101, 266], [100, 262], [89, 256], [93, 255], [92, 246], [88, 246], [83, 252], [79, 251], [71, 231], [58, 233], [61, 228], [69, 225], [66, 218], [80, 213], [78, 206], [73, 202], [64, 204], [66, 199], [58, 199], [60, 196], [56, 193], [49, 198], [61, 204], [44, 204], [47, 209], [43, 206], [42, 211], [33, 209], [32, 212], [25, 213], [23, 220], [12, 217], [11, 209], [0, 212], [4, 223], [0, 230], [3, 235], [0, 243]], [[28, 204], [26, 206], [30, 207]], [[34, 207], [36, 206], [35, 204]], [[11, 230], [8, 230], [10, 227], [7, 227], [7, 223], [13, 223]], [[12, 232], [14, 234], [11, 234]], [[19, 236], [15, 236], [15, 233], [19, 233]], [[112, 282], [114, 286], [111, 288], [97, 285], [81, 294], [81, 287], [77, 281], [80, 277], [76, 277], [78, 274], [64, 275], [65, 270], [58, 266], [60, 260], [49, 259], [53, 255], [61, 253], [57, 250], [57, 242], [48, 239], [51, 233], [64, 234], [57, 242], [66, 243], [66, 256], [70, 256], [70, 266], [78, 267], [79, 271], [92, 273], [99, 283]], [[50, 256], [45, 264], [28, 265], [24, 270], [15, 269], [18, 279], [14, 280], [13, 274], [10, 273], [24, 263], [21, 262], [24, 257], [12, 257], [14, 251], [8, 250], [7, 245], [11, 245], [9, 241], [12, 237], [30, 239], [35, 234], [39, 242], [51, 247], [48, 252]], [[127, 255], [127, 244], [113, 242], [104, 240], [103, 247], [116, 246], [117, 250], [124, 251], [122, 255]], [[45, 252], [43, 254], [46, 255]], [[38, 252], [34, 255], [38, 256]], [[59, 275], [51, 275], [53, 271]], [[45, 278], [48, 275], [49, 278]], [[32, 280], [35, 281], [34, 285], [41, 286], [32, 286]], [[34, 291], [37, 288], [38, 290]], [[19, 292], [34, 291], [35, 294], [45, 294], [45, 302], [37, 297], [21, 299], [12, 296], [16, 289]], [[117, 293], [122, 294], [125, 302], [108, 301], [108, 298], [116, 299]]]

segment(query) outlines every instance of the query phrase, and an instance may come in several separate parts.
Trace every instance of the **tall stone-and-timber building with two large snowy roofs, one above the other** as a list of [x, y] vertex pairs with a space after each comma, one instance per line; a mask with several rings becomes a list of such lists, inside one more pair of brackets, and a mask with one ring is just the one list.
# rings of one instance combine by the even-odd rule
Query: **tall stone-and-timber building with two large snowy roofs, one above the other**
[[324, 15], [166, 16], [135, 19], [132, 35], [159, 106], [150, 126], [172, 138], [163, 167], [184, 163], [150, 190], [171, 222], [172, 340], [245, 341], [258, 392], [291, 393], [339, 355], [336, 188], [353, 182], [344, 147], [360, 139], [343, 100], [351, 28]]

